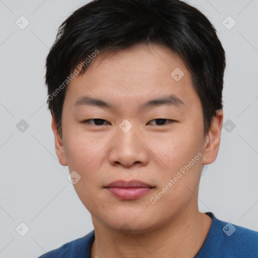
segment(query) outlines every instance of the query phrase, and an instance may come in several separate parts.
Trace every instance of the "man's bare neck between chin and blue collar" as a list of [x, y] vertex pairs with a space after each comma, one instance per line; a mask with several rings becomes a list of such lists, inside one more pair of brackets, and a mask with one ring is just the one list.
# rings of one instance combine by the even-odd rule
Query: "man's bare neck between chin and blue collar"
[[137, 258], [194, 257], [202, 247], [211, 226], [211, 218], [198, 209], [183, 212], [155, 229], [128, 234], [110, 229], [92, 218], [95, 240], [91, 257]]

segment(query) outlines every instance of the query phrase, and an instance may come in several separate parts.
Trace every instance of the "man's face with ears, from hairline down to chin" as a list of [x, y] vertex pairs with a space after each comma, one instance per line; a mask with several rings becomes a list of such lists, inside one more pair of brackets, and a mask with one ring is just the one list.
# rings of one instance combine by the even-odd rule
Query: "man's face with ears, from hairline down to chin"
[[[146, 232], [197, 210], [193, 197], [202, 165], [216, 159], [221, 119], [204, 137], [201, 101], [170, 49], [137, 45], [103, 56], [67, 88], [56, 153], [81, 176], [74, 187], [93, 224]], [[117, 180], [146, 185], [107, 187]]]

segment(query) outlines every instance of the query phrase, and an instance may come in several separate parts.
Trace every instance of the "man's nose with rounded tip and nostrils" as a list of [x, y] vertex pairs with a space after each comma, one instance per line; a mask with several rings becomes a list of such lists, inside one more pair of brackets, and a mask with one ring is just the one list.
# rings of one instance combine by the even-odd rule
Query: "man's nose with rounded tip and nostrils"
[[110, 164], [120, 164], [125, 167], [146, 165], [149, 161], [150, 150], [143, 138], [143, 134], [136, 126], [126, 133], [118, 128], [117, 136], [109, 146]]

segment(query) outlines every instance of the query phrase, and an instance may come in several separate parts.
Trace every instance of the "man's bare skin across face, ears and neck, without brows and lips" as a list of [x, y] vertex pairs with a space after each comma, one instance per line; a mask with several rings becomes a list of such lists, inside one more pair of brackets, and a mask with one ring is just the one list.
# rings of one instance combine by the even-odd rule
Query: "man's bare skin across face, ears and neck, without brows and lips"
[[[100, 52], [68, 86], [62, 137], [52, 118], [59, 162], [81, 176], [74, 187], [92, 216], [91, 257], [194, 257], [211, 226], [211, 218], [198, 210], [197, 196], [202, 165], [214, 162], [218, 154], [223, 112], [217, 112], [204, 137], [202, 105], [190, 73], [169, 48], [139, 44], [103, 57]], [[170, 76], [175, 68], [184, 73], [179, 81]], [[139, 110], [142, 103], [169, 94], [184, 105]], [[82, 96], [108, 101], [115, 108], [75, 107]], [[82, 122], [93, 118], [105, 122]], [[157, 125], [157, 118], [175, 121]], [[124, 119], [133, 125], [127, 133], [119, 127]], [[150, 199], [199, 152], [203, 156], [152, 204]], [[104, 188], [118, 179], [137, 179], [155, 188], [141, 198], [121, 200]], [[124, 225], [130, 228], [126, 233]]]

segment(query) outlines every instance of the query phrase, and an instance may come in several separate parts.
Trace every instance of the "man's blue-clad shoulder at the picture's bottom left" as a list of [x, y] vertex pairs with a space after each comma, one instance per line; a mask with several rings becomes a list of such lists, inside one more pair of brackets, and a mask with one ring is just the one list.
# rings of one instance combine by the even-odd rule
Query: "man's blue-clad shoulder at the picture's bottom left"
[[[38, 258], [70, 258], [70, 257], [85, 257], [90, 253], [91, 244], [95, 238], [94, 230], [84, 237], [75, 239], [71, 242], [61, 245], [59, 248], [51, 250]], [[80, 256], [79, 256], [80, 255]]]

